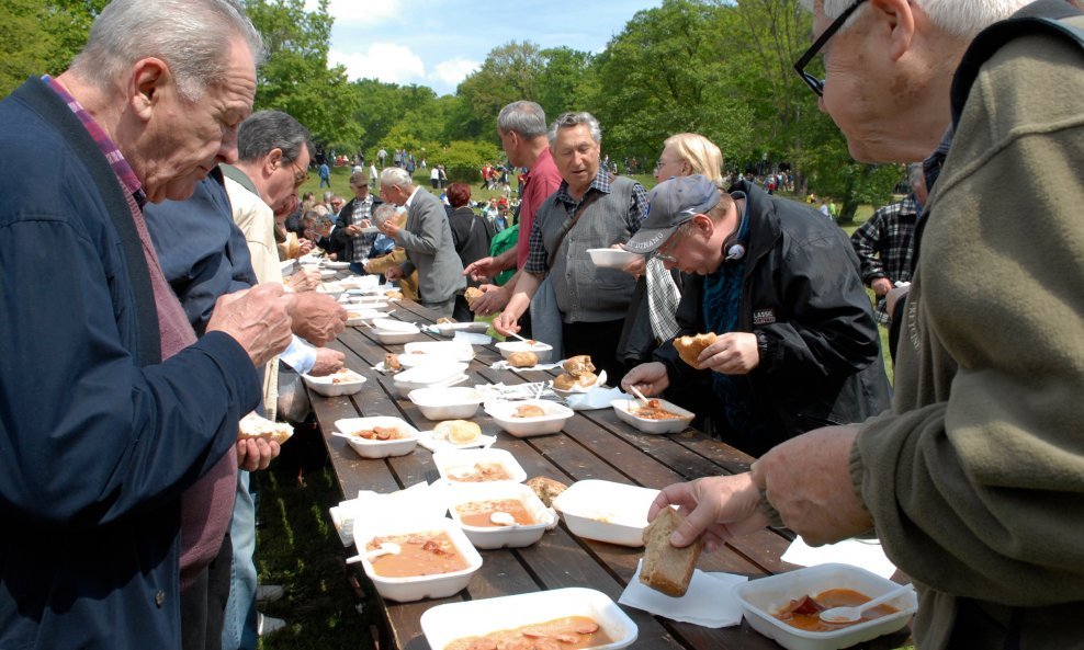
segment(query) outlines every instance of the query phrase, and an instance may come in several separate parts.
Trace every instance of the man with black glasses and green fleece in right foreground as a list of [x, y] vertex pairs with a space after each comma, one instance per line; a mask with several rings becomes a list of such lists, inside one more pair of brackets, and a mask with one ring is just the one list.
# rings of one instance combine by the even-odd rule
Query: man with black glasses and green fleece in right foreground
[[799, 67], [828, 50], [826, 79], [804, 78], [856, 158], [915, 160], [955, 130], [893, 411], [789, 441], [750, 474], [671, 486], [650, 513], [691, 510], [678, 546], [718, 546], [771, 511], [812, 544], [876, 533], [918, 586], [923, 650], [1084, 638], [1084, 52], [1027, 18], [1084, 16], [1037, 2], [975, 37], [1019, 5], [816, 3]]

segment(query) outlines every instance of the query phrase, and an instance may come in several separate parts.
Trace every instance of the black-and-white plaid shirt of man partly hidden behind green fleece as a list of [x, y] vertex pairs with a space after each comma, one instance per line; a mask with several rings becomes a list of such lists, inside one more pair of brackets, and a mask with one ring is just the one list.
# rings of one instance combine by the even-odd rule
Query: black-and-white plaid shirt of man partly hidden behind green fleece
[[[915, 253], [915, 221], [918, 203], [908, 195], [900, 203], [887, 205], [850, 236], [850, 243], [862, 265], [862, 282], [871, 285], [879, 277], [893, 283], [911, 282]], [[877, 299], [877, 319], [889, 322], [884, 297]]]

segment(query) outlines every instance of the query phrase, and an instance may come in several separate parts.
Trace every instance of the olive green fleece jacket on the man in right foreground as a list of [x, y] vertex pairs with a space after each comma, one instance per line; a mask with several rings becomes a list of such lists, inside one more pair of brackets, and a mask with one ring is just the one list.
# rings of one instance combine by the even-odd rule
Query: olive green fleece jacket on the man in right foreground
[[1084, 645], [1082, 170], [1084, 52], [1016, 38], [982, 67], [930, 196], [893, 412], [851, 453], [919, 589], [922, 650], [982, 614], [969, 650], [1001, 648], [1014, 617], [1021, 648]]

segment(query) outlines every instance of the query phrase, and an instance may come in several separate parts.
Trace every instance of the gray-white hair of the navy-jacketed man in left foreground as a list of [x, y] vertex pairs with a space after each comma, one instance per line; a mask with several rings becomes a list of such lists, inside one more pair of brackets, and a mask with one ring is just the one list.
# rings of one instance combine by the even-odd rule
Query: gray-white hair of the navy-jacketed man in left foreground
[[94, 20], [71, 69], [108, 90], [133, 64], [156, 57], [177, 78], [178, 92], [194, 102], [225, 79], [237, 36], [259, 65], [263, 39], [237, 0], [113, 0]]

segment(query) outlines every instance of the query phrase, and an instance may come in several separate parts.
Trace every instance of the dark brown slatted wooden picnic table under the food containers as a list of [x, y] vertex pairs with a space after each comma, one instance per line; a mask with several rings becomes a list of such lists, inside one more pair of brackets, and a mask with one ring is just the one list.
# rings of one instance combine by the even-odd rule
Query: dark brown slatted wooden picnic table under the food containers
[[[393, 303], [391, 318], [430, 323], [434, 315], [410, 300]], [[431, 339], [438, 339], [430, 337]], [[419, 337], [417, 340], [422, 340]], [[438, 339], [439, 340], [439, 339]], [[443, 339], [447, 340], [447, 339]], [[408, 399], [400, 399], [391, 376], [372, 369], [387, 352], [403, 352], [403, 345], [381, 344], [371, 330], [347, 328], [332, 346], [346, 353], [346, 365], [366, 377], [362, 390], [352, 396], [325, 398], [310, 392], [313, 409], [327, 444], [339, 486], [346, 498], [360, 490], [388, 493], [425, 480], [434, 469], [432, 455], [419, 446], [414, 453], [384, 459], [358, 456], [342, 437], [332, 436], [335, 421], [342, 418], [394, 415], [420, 431], [436, 422], [427, 420]], [[550, 378], [528, 373], [527, 378], [511, 370], [493, 369], [501, 358], [492, 345], [475, 346], [466, 385], [539, 381]], [[704, 476], [746, 471], [753, 458], [718, 440], [688, 429], [670, 435], [637, 432], [617, 419], [612, 409], [577, 411], [554, 435], [517, 438], [504, 431], [483, 411], [473, 418], [487, 435], [496, 435], [496, 448], [510, 452], [528, 477], [546, 476], [566, 484], [584, 479], [603, 479], [664, 488], [670, 483]], [[727, 544], [716, 552], [703, 554], [698, 567], [704, 571], [725, 571], [757, 578], [794, 569], [779, 558], [792, 534], [775, 529], [759, 531]], [[421, 632], [421, 614], [436, 605], [461, 600], [488, 598], [567, 586], [589, 586], [614, 602], [636, 570], [643, 549], [581, 539], [565, 528], [547, 532], [527, 548], [481, 550], [484, 563], [464, 592], [450, 598], [415, 603], [381, 603], [380, 647], [404, 650], [429, 648]], [[363, 572], [360, 572], [363, 580]], [[655, 617], [641, 609], [622, 606], [636, 623], [640, 635], [634, 648], [689, 648], [697, 650], [777, 650], [775, 641], [754, 631], [747, 623], [736, 627], [710, 629]], [[887, 637], [868, 648], [896, 648], [906, 635]]]

